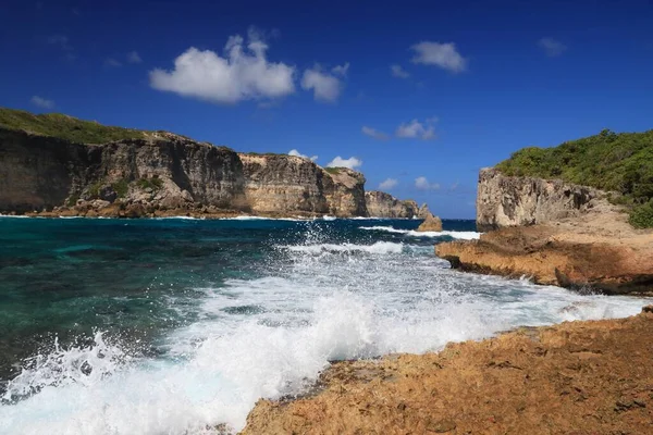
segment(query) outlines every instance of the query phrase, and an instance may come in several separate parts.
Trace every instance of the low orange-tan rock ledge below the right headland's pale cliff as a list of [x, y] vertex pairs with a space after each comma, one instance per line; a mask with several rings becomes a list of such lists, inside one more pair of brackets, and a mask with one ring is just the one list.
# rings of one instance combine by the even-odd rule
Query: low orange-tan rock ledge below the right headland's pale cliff
[[617, 209], [444, 243], [435, 253], [467, 272], [606, 294], [653, 294], [653, 231], [632, 228]]

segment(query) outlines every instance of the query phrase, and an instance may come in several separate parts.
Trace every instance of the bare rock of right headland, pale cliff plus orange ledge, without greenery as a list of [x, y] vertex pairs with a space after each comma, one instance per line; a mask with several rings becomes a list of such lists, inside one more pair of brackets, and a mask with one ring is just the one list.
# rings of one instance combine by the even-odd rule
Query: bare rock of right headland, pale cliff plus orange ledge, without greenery
[[[479, 240], [435, 247], [467, 272], [530, 277], [605, 294], [653, 294], [653, 231], [634, 229], [607, 194], [583, 186], [481, 171]], [[498, 229], [495, 229], [498, 228]]]

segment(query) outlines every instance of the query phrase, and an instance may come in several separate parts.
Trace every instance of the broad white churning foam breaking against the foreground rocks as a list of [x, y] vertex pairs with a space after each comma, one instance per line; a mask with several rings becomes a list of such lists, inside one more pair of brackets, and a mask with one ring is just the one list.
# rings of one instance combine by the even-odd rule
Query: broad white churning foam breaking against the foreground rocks
[[167, 337], [165, 359], [130, 359], [101, 335], [90, 348], [41, 357], [10, 383], [0, 433], [237, 431], [256, 400], [301, 391], [331, 360], [438, 350], [518, 325], [630, 315], [646, 303], [461, 274], [430, 248], [322, 241], [311, 234], [284, 247], [267, 276], [200, 289], [199, 320]]

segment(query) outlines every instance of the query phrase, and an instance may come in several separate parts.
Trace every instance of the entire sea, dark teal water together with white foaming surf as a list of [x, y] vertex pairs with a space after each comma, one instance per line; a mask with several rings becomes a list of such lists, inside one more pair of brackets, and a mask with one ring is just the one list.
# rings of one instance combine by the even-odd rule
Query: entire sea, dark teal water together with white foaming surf
[[650, 300], [464, 274], [470, 221], [0, 217], [0, 434], [210, 434], [330, 361]]

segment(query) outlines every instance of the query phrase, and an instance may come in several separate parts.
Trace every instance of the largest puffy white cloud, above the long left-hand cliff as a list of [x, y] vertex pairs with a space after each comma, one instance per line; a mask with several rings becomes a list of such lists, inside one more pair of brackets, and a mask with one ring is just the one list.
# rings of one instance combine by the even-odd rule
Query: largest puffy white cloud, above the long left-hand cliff
[[174, 60], [174, 70], [151, 71], [150, 86], [214, 103], [274, 99], [293, 94], [295, 67], [269, 62], [268, 48], [255, 29], [249, 29], [247, 44], [239, 35], [230, 37], [224, 57], [192, 47]]

